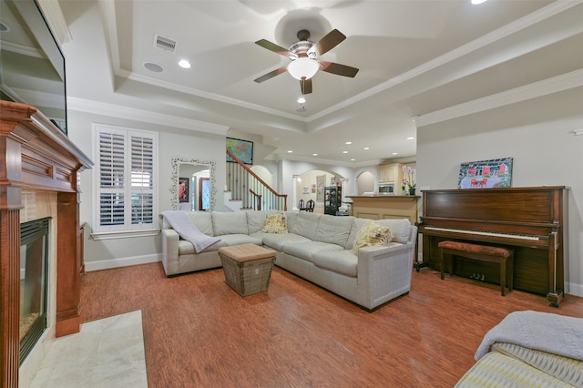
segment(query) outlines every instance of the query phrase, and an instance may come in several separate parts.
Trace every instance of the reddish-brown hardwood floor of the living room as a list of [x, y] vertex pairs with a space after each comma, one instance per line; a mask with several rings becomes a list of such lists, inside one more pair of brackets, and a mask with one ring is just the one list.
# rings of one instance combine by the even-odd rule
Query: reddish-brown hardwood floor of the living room
[[508, 312], [583, 317], [522, 291], [413, 271], [411, 292], [377, 311], [275, 267], [241, 297], [221, 269], [166, 278], [161, 263], [83, 275], [84, 321], [141, 310], [150, 387], [451, 387]]

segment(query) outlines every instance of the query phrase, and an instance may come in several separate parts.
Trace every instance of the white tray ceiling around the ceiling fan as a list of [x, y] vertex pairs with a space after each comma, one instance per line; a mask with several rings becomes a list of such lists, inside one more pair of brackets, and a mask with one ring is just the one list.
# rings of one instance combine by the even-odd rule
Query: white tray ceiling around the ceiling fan
[[[64, 14], [72, 3], [60, 1]], [[583, 5], [575, 0], [100, 5], [118, 93], [157, 101], [161, 112], [179, 107], [191, 118], [252, 134], [275, 159], [358, 166], [414, 158], [415, 140], [406, 138], [415, 137], [415, 118], [426, 124], [552, 93], [580, 83], [583, 69]], [[305, 112], [298, 112], [300, 85], [289, 74], [253, 82], [290, 62], [254, 42], [287, 47], [302, 28], [313, 41], [333, 28], [343, 32], [347, 38], [322, 59], [360, 71], [354, 78], [320, 71]], [[156, 35], [175, 40], [175, 51], [155, 47]], [[178, 66], [183, 58], [190, 69]]]

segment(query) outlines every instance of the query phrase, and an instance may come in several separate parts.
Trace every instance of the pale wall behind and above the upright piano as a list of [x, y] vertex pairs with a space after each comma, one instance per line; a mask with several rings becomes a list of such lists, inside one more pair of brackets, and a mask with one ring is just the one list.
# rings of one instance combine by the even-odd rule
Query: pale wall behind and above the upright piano
[[[455, 189], [462, 162], [514, 158], [512, 186], [568, 186], [566, 291], [583, 296], [583, 87], [417, 130], [417, 187]], [[423, 195], [423, 193], [422, 193]]]

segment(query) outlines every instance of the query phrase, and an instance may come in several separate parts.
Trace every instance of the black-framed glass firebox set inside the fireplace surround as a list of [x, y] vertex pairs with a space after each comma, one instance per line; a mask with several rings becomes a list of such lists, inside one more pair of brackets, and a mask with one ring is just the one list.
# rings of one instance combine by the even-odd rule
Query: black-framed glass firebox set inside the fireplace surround
[[46, 330], [50, 217], [20, 224], [19, 363]]

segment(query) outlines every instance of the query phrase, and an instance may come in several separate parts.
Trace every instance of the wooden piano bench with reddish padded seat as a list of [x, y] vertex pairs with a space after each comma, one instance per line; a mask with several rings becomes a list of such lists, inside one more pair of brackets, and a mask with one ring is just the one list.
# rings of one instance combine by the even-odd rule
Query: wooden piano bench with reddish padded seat
[[506, 294], [506, 280], [508, 291], [513, 288], [513, 257], [514, 250], [491, 247], [487, 245], [468, 244], [458, 241], [441, 241], [439, 247], [439, 269], [441, 279], [444, 279], [444, 261], [447, 258], [449, 276], [452, 276], [452, 255], [462, 256], [467, 259], [497, 262], [500, 264], [500, 291], [502, 296]]

